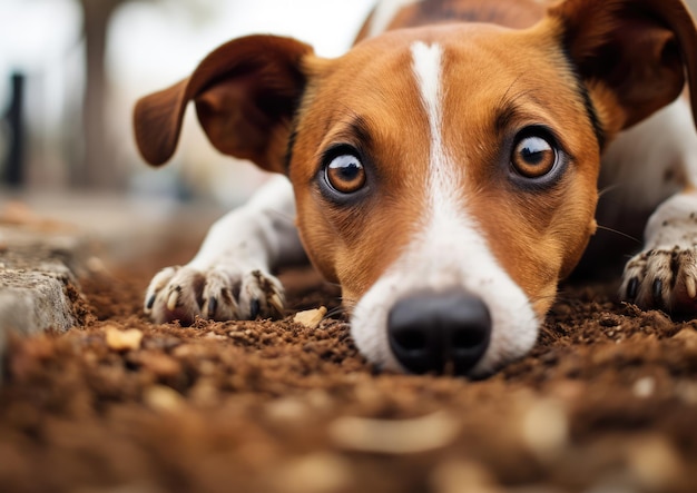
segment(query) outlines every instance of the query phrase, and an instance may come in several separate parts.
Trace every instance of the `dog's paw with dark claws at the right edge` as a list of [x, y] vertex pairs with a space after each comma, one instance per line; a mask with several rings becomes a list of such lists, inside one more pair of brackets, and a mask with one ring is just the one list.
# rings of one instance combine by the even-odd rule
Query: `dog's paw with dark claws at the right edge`
[[697, 246], [658, 247], [627, 263], [620, 296], [642, 308], [697, 312]]

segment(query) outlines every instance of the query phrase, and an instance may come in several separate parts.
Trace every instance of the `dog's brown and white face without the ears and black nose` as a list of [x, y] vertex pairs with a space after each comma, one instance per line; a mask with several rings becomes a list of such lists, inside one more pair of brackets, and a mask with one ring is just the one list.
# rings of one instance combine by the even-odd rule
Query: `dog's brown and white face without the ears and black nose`
[[400, 367], [391, 309], [461, 290], [491, 315], [478, 367], [529, 349], [595, 229], [599, 144], [559, 46], [441, 27], [308, 66], [289, 165], [298, 227], [355, 306], [359, 347]]

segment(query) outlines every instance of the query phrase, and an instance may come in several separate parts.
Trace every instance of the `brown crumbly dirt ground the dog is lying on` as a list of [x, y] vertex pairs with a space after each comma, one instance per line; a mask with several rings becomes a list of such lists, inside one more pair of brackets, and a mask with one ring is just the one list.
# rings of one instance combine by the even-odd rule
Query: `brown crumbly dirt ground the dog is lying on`
[[697, 491], [696, 322], [565, 287], [488, 379], [385, 374], [310, 269], [279, 322], [148, 323], [149, 278], [195, 241], [164, 244], [81, 279], [82, 326], [11, 341], [0, 492]]

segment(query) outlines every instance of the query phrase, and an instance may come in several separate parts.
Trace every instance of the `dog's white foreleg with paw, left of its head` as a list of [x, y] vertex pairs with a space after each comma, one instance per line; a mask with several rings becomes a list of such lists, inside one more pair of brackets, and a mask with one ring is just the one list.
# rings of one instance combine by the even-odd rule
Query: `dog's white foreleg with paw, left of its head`
[[283, 286], [269, 274], [304, 258], [293, 189], [278, 176], [213, 225], [198, 254], [150, 282], [145, 310], [156, 322], [248, 319], [281, 315]]

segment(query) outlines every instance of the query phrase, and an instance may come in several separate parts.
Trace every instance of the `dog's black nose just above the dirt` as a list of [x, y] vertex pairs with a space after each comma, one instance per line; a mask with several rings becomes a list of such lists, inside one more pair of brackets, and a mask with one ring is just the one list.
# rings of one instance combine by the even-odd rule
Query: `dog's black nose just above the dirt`
[[464, 375], [489, 347], [491, 316], [462, 292], [419, 293], [397, 302], [387, 318], [390, 347], [410, 372]]

